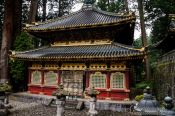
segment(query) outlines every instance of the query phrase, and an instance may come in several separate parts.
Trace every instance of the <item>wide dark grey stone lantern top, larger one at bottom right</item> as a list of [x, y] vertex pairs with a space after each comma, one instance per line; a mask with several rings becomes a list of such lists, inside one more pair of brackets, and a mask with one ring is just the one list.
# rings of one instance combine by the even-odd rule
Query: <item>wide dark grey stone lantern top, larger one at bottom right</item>
[[142, 115], [157, 115], [159, 113], [159, 103], [151, 95], [150, 87], [144, 90], [144, 98], [136, 105], [135, 111], [141, 112]]

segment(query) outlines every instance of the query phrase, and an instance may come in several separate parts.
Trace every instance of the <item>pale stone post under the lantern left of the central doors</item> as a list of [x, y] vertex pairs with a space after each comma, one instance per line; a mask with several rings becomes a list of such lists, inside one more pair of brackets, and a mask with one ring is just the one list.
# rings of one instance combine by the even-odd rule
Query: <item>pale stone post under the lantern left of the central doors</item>
[[56, 105], [57, 105], [57, 114], [56, 116], [64, 116], [64, 105], [65, 101], [56, 99]]

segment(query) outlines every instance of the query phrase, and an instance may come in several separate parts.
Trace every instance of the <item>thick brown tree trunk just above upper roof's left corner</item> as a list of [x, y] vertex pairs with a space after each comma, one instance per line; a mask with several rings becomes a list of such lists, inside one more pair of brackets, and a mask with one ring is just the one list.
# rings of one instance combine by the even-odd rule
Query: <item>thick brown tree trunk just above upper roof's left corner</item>
[[28, 17], [29, 24], [35, 22], [35, 17], [37, 14], [37, 6], [38, 6], [38, 0], [31, 0], [29, 17]]

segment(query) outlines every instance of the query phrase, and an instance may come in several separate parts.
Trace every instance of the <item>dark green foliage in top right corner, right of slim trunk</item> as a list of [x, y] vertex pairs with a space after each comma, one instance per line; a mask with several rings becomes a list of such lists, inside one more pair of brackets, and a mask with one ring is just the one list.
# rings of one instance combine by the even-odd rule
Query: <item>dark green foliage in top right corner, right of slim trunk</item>
[[175, 14], [174, 0], [145, 0], [147, 20], [152, 22], [152, 42], [157, 43], [164, 39], [168, 33], [169, 14]]

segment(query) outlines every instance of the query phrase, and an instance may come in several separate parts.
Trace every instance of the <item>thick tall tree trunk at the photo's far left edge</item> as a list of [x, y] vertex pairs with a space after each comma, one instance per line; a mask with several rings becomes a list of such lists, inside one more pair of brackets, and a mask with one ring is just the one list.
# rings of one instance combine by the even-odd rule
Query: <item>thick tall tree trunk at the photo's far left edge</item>
[[5, 1], [5, 14], [2, 32], [2, 45], [1, 45], [1, 78], [0, 82], [4, 83], [9, 80], [8, 78], [8, 51], [11, 47], [11, 39], [13, 33], [13, 10], [14, 0]]

